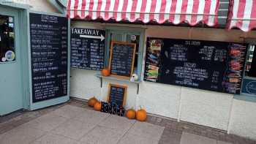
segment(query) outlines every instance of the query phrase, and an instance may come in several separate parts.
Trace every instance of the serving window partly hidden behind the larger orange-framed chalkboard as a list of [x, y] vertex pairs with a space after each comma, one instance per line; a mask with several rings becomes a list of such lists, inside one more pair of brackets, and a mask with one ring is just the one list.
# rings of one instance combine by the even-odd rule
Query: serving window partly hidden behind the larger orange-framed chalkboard
[[[121, 42], [130, 42], [136, 44], [136, 53], [135, 53], [135, 63], [134, 70], [132, 73], [138, 75], [140, 80], [140, 74], [143, 63], [143, 39], [144, 31], [142, 29], [131, 29], [131, 28], [121, 28], [114, 29], [110, 28], [107, 30], [107, 59], [109, 59], [110, 53], [110, 44], [112, 41], [121, 41]], [[107, 64], [108, 65], [108, 64]]]

